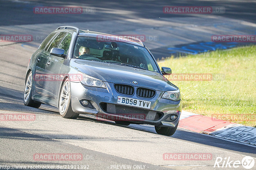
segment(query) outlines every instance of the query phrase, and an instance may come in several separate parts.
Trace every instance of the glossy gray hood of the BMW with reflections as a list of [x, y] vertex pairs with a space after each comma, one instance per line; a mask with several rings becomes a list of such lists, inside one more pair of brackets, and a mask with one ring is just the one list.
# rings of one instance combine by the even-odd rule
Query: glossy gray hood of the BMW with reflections
[[[111, 83], [125, 83], [159, 91], [178, 89], [162, 74], [148, 70], [81, 59], [71, 59], [70, 66], [96, 79]], [[133, 84], [133, 81], [137, 81], [138, 84]]]

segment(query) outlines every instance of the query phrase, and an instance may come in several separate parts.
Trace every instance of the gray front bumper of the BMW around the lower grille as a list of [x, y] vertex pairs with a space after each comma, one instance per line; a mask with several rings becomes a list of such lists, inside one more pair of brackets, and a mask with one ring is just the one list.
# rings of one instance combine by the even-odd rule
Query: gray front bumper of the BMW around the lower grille
[[[157, 91], [153, 98], [141, 98], [137, 97], [136, 94], [133, 96], [127, 96], [116, 92], [114, 83], [104, 82], [107, 89], [88, 87], [83, 85], [81, 82], [70, 82], [71, 85], [71, 105], [72, 109], [76, 113], [91, 114], [96, 117], [103, 118], [117, 118], [118, 120], [125, 120], [137, 124], [151, 124], [160, 127], [175, 127], [180, 119], [180, 113], [182, 109], [182, 101], [171, 101], [163, 99], [163, 91]], [[161, 113], [161, 116], [157, 120], [146, 120], [140, 118], [127, 119], [127, 117], [120, 115], [113, 115], [102, 109], [101, 103], [117, 104], [117, 97], [129, 97], [138, 100], [147, 100], [151, 102], [150, 110]], [[86, 107], [82, 105], [81, 100], [88, 100], [89, 105]], [[172, 121], [170, 115], [176, 115], [177, 118]]]

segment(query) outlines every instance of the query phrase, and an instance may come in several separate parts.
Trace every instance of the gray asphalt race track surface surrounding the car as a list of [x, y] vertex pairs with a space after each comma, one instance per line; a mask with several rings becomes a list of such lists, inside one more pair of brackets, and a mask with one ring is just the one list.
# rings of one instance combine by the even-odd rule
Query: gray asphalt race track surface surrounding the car
[[[35, 6], [65, 5], [95, 11], [81, 15], [33, 13]], [[163, 14], [163, 6], [196, 5], [224, 6], [226, 12], [208, 15]], [[154, 35], [157, 39], [146, 40], [145, 44], [157, 52], [159, 49], [164, 51], [167, 46], [205, 41], [216, 33], [255, 34], [255, 12], [255, 1], [242, 0], [0, 1], [0, 34], [33, 35], [33, 41], [29, 43], [0, 41], [0, 114], [31, 113], [36, 116], [34, 121], [0, 121], [0, 169], [7, 169], [6, 166], [13, 169], [16, 166], [52, 166], [48, 169], [69, 166], [71, 169], [71, 165], [73, 169], [74, 165], [82, 165], [86, 169], [228, 169], [228, 159], [232, 163], [239, 160], [236, 169], [244, 169], [242, 159], [245, 156], [256, 158], [256, 146], [180, 128], [172, 137], [167, 137], [156, 134], [150, 125], [122, 126], [87, 115], [65, 119], [57, 108], [49, 105], [42, 104], [39, 109], [24, 106], [22, 97], [30, 56], [58, 26], [75, 25], [115, 34]], [[56, 161], [35, 158], [44, 153], [72, 153], [82, 155], [83, 159]], [[211, 159], [164, 160], [165, 153], [205, 153], [210, 154]], [[214, 167], [217, 157], [223, 159], [219, 163], [220, 168]], [[131, 168], [125, 165], [131, 165]]]

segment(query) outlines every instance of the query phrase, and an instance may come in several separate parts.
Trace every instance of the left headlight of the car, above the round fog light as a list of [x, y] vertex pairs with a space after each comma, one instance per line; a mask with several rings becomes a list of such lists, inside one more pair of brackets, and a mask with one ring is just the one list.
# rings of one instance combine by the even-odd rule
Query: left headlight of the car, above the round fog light
[[89, 75], [83, 74], [80, 71], [76, 75], [79, 78], [80, 82], [83, 83], [86, 86], [100, 87], [100, 88], [105, 88], [106, 89], [106, 85], [101, 80], [98, 80], [98, 79], [95, 79], [95, 78], [93, 78]]

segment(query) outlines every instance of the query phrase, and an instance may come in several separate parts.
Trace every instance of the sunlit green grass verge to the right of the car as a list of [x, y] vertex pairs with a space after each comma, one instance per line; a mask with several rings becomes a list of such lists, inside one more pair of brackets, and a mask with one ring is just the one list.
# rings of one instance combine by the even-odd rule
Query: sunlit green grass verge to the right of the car
[[[256, 127], [256, 46], [170, 57], [158, 65], [172, 69], [166, 78], [180, 88], [183, 110]], [[177, 80], [180, 73], [192, 81]], [[191, 79], [200, 74], [212, 80]]]

